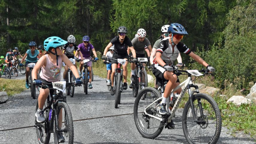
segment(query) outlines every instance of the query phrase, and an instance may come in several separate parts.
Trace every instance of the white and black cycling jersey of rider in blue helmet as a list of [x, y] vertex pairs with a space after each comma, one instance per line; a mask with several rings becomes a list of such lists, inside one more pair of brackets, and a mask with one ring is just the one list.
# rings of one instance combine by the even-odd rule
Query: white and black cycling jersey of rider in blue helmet
[[[175, 61], [177, 59], [180, 52], [185, 53], [185, 54], [190, 54], [191, 50], [189, 48], [187, 48], [186, 45], [179, 42], [177, 45], [175, 45], [174, 52], [173, 52], [172, 51], [172, 45], [169, 43], [169, 38], [170, 37], [166, 37], [163, 40], [161, 40], [161, 42], [159, 42], [159, 45], [157, 46], [156, 52], [161, 53], [162, 54], [161, 59], [167, 65], [172, 66], [173, 61]], [[155, 63], [156, 62], [155, 59], [154, 59], [154, 64], [157, 64], [157, 63]]]

